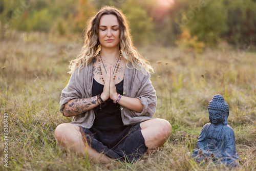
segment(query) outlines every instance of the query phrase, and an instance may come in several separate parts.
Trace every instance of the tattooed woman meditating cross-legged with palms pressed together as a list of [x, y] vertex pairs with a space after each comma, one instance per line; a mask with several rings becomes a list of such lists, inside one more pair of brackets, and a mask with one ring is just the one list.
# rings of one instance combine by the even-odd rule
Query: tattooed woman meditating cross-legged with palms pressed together
[[60, 112], [74, 117], [56, 127], [61, 147], [102, 162], [133, 162], [166, 142], [172, 127], [152, 118], [157, 104], [153, 69], [134, 48], [118, 9], [103, 7], [91, 18], [70, 69]]

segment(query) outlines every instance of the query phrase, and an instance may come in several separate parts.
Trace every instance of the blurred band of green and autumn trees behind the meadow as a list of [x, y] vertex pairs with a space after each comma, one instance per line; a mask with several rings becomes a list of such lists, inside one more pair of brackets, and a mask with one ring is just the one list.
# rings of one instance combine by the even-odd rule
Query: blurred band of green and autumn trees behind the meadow
[[[244, 48], [245, 43], [247, 47], [254, 45], [256, 39], [254, 0], [2, 0], [1, 37], [5, 37], [7, 29], [81, 33], [88, 18], [104, 5], [124, 12], [137, 45], [169, 46], [179, 42], [179, 46], [201, 51], [199, 47], [217, 46], [220, 41]], [[193, 42], [182, 45], [184, 32]], [[181, 37], [183, 40], [177, 41]]]

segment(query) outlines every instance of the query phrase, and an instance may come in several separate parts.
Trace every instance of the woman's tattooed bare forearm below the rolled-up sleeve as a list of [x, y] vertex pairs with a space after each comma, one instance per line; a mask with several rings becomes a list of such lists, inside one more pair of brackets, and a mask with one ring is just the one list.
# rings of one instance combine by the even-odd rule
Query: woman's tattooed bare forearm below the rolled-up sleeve
[[79, 115], [95, 108], [97, 104], [98, 101], [96, 96], [86, 99], [73, 99], [70, 100], [67, 104], [65, 104], [63, 113], [65, 113], [65, 116]]

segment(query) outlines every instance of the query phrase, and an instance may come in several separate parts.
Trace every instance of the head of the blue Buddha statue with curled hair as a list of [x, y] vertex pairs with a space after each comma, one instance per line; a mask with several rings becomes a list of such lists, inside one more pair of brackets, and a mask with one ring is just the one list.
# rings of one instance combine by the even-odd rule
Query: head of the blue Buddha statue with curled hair
[[210, 123], [227, 125], [227, 118], [229, 115], [229, 108], [227, 102], [220, 94], [212, 97], [208, 104], [208, 112]]

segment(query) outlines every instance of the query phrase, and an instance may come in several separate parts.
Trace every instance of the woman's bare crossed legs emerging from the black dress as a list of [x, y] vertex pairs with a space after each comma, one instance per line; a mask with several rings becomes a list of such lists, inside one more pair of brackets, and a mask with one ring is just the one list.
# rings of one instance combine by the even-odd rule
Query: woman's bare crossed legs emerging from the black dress
[[[172, 126], [164, 119], [150, 119], [140, 123], [141, 133], [145, 140], [148, 151], [161, 147], [170, 136]], [[91, 159], [100, 162], [110, 162], [112, 159], [97, 152], [84, 142], [80, 132], [80, 127], [72, 123], [62, 123], [55, 129], [55, 138], [58, 144], [70, 151], [80, 155], [88, 154]]]

